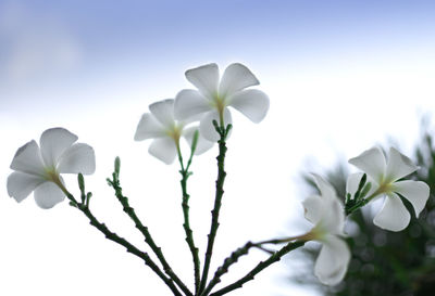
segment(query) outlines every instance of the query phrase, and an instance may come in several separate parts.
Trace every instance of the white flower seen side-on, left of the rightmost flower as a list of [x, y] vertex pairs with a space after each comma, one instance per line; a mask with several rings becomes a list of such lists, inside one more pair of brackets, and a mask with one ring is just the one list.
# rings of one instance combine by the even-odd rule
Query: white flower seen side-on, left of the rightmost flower
[[320, 195], [303, 201], [304, 217], [314, 224], [306, 235], [323, 244], [314, 265], [314, 274], [326, 285], [338, 284], [345, 276], [350, 250], [344, 240], [345, 213], [334, 188], [313, 175]]

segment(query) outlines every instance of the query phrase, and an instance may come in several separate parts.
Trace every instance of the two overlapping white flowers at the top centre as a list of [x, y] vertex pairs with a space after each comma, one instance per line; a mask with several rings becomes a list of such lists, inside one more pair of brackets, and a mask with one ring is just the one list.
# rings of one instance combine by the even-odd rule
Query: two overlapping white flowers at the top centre
[[[186, 78], [198, 90], [184, 89], [176, 94], [175, 101], [170, 99], [151, 104], [150, 113], [142, 115], [135, 134], [136, 141], [154, 139], [149, 153], [165, 164], [172, 164], [179, 152], [179, 138], [185, 137], [191, 145], [197, 129], [200, 137], [196, 154], [209, 150], [219, 140], [213, 120], [220, 126], [233, 121], [228, 106], [253, 123], [260, 123], [268, 113], [268, 95], [257, 89], [247, 89], [259, 81], [241, 64], [231, 64], [221, 79], [216, 64], [188, 69]], [[196, 121], [199, 126], [185, 128]]]

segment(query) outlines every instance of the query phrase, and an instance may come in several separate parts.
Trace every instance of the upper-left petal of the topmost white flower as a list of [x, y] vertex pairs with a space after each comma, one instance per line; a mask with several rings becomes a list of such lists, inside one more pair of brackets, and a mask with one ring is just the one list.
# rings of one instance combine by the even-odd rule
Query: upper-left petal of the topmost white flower
[[208, 98], [213, 98], [217, 93], [219, 68], [216, 64], [188, 69], [186, 78]]

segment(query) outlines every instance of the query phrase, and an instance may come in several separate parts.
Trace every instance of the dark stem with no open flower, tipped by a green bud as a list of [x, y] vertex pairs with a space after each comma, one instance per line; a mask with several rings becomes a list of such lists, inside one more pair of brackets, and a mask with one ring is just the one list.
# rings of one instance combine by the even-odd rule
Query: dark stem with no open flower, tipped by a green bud
[[142, 224], [140, 219], [137, 217], [135, 209], [130, 207], [128, 203], [128, 197], [124, 196], [122, 193], [122, 188], [120, 184], [120, 158], [116, 157], [115, 160], [115, 171], [112, 175], [112, 180], [108, 179], [109, 184], [114, 189], [115, 191], [115, 196], [117, 201], [123, 206], [123, 210], [128, 215], [128, 217], [133, 220], [135, 223], [135, 227], [142, 233], [145, 237], [145, 242], [151, 247], [152, 252], [156, 254], [156, 256], [159, 258], [159, 261], [163, 266], [164, 272], [179, 286], [179, 288], [189, 296], [192, 296], [191, 292], [189, 288], [183, 283], [183, 281], [175, 274], [175, 272], [172, 270], [171, 266], [167, 263], [161, 247], [157, 246], [154, 243], [154, 240], [152, 239], [148, 228]]

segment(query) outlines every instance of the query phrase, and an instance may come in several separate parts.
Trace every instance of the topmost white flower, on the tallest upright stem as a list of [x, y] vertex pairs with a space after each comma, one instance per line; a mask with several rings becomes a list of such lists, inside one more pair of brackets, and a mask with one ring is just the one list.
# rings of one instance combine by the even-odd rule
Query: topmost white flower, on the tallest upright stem
[[198, 114], [203, 115], [199, 130], [210, 141], [219, 140], [213, 120], [220, 125], [232, 123], [227, 106], [238, 110], [253, 123], [260, 123], [268, 113], [268, 95], [257, 89], [246, 89], [259, 85], [259, 81], [241, 64], [231, 64], [221, 79], [216, 64], [188, 69], [186, 78], [198, 90], [185, 89], [176, 95], [175, 118], [184, 120]]

